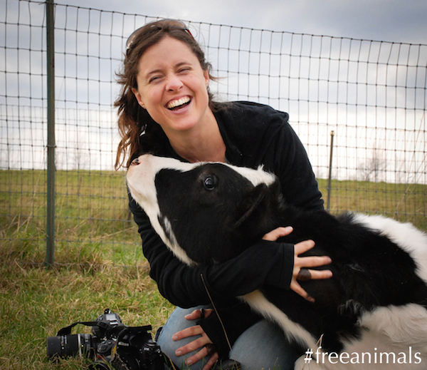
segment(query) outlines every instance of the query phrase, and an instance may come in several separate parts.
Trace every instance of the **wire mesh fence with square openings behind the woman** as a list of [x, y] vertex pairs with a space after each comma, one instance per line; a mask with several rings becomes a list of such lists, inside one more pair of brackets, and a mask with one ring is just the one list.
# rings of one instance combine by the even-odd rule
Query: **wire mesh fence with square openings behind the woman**
[[[0, 201], [6, 257], [46, 253], [46, 4], [0, 4]], [[132, 31], [154, 17], [55, 6], [59, 264], [136, 264], [139, 237], [115, 172], [115, 73]], [[427, 45], [186, 22], [222, 101], [290, 113], [332, 212], [382, 213], [427, 229]], [[6, 258], [7, 259], [7, 258]]]

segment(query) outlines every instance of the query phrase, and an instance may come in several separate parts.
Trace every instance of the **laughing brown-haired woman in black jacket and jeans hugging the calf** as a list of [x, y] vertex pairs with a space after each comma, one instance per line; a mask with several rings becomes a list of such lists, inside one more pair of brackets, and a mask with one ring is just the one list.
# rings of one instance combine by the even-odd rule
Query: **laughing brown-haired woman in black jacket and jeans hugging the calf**
[[[257, 103], [214, 102], [210, 70], [199, 44], [180, 21], [156, 21], [130, 36], [119, 75], [122, 91], [115, 102], [122, 136], [116, 168], [128, 167], [143, 153], [191, 163], [264, 165], [280, 179], [288, 202], [321, 209], [315, 176], [288, 124], [288, 114]], [[159, 292], [177, 306], [159, 344], [179, 369], [209, 370], [228, 357], [239, 361], [244, 370], [293, 369], [302, 349], [236, 297], [268, 284], [311, 299], [297, 282], [300, 270], [330, 263], [329, 257], [298, 257], [314, 242], [275, 242], [292, 232], [292, 227], [280, 227], [236, 259], [189, 267], [168, 250], [131, 197], [130, 210], [150, 276]], [[332, 275], [328, 270], [309, 271], [312, 279]]]

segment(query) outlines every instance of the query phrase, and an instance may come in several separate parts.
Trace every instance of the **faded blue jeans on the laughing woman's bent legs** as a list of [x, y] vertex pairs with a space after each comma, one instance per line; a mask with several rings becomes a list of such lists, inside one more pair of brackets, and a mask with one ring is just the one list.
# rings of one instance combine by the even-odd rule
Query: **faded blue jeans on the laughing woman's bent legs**
[[[184, 356], [175, 356], [176, 349], [188, 344], [196, 337], [173, 341], [172, 336], [182, 329], [196, 325], [194, 321], [184, 318], [194, 309], [176, 308], [164, 325], [162, 333], [159, 335], [158, 343], [162, 351], [169, 356], [179, 369], [201, 370], [206, 364], [204, 359], [191, 365], [191, 368], [184, 364], [184, 361], [196, 352], [190, 352]], [[206, 308], [206, 307], [204, 307]], [[294, 344], [290, 344], [285, 338], [282, 330], [274, 324], [262, 320], [243, 332], [233, 344], [230, 351], [230, 358], [241, 363], [241, 370], [292, 370], [294, 362], [303, 354], [303, 350]]]

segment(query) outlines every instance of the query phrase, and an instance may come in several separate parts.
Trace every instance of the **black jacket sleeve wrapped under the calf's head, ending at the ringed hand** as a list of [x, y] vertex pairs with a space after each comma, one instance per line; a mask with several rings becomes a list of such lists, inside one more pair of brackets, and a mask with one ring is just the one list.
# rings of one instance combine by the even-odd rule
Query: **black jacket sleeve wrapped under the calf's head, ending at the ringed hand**
[[160, 294], [179, 307], [228, 305], [231, 299], [253, 292], [263, 284], [289, 289], [293, 246], [261, 240], [240, 256], [221, 264], [189, 267], [177, 259], [152, 228], [149, 218], [130, 197], [142, 237], [142, 250], [150, 264], [150, 277]]

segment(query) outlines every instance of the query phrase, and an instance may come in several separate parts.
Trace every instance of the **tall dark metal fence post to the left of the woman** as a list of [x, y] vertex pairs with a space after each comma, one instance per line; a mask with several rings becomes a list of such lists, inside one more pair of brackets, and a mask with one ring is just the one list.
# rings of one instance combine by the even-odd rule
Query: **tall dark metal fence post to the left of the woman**
[[48, 93], [48, 172], [46, 210], [46, 267], [55, 250], [55, 19], [53, 0], [46, 0], [46, 60]]

